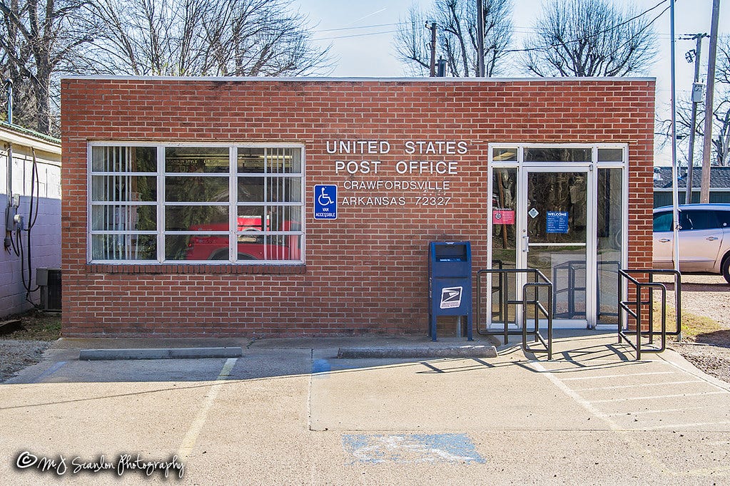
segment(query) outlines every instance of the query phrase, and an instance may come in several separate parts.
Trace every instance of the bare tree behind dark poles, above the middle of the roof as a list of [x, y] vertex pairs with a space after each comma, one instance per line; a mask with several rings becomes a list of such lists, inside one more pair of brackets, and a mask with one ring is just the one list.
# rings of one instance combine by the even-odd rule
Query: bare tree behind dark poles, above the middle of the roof
[[[512, 37], [512, 1], [484, 1], [485, 74], [499, 74]], [[437, 56], [442, 56], [455, 77], [477, 75], [477, 12], [473, 1], [436, 0], [423, 12], [415, 4], [401, 19], [394, 45], [411, 74], [428, 73], [431, 34], [426, 23], [437, 24]]]

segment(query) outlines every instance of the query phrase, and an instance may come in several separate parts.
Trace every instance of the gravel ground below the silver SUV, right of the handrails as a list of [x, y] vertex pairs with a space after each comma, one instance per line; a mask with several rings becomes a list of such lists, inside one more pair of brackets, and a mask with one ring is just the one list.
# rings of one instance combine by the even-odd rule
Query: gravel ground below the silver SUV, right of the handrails
[[[674, 298], [669, 292], [669, 302]], [[682, 310], [709, 317], [726, 330], [669, 346], [708, 375], [730, 383], [730, 284], [720, 275], [683, 275]]]

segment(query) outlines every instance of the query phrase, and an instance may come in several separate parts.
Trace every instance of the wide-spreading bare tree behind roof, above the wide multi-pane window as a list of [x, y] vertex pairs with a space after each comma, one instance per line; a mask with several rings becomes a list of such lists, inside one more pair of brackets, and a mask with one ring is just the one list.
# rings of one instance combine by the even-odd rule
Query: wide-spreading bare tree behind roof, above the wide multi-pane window
[[328, 67], [286, 0], [95, 0], [96, 70], [169, 76], [279, 76]]

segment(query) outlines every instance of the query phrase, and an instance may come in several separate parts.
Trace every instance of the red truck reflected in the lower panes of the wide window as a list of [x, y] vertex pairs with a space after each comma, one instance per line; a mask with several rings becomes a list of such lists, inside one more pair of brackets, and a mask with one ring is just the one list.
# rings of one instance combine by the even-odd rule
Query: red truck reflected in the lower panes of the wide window
[[[299, 235], [264, 235], [262, 230], [272, 230], [266, 219], [262, 227], [260, 217], [238, 218], [237, 259], [240, 260], [299, 260], [301, 257]], [[298, 222], [285, 221], [274, 231], [299, 231]], [[228, 231], [228, 224], [196, 224], [193, 231]], [[227, 260], [228, 235], [191, 235], [188, 240], [186, 260]]]

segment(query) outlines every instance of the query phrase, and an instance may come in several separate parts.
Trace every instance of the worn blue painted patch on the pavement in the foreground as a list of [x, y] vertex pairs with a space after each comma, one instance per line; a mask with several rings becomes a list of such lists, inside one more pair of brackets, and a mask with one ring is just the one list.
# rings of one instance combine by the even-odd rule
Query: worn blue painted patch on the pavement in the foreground
[[353, 458], [348, 464], [486, 462], [466, 434], [345, 434], [342, 448]]

